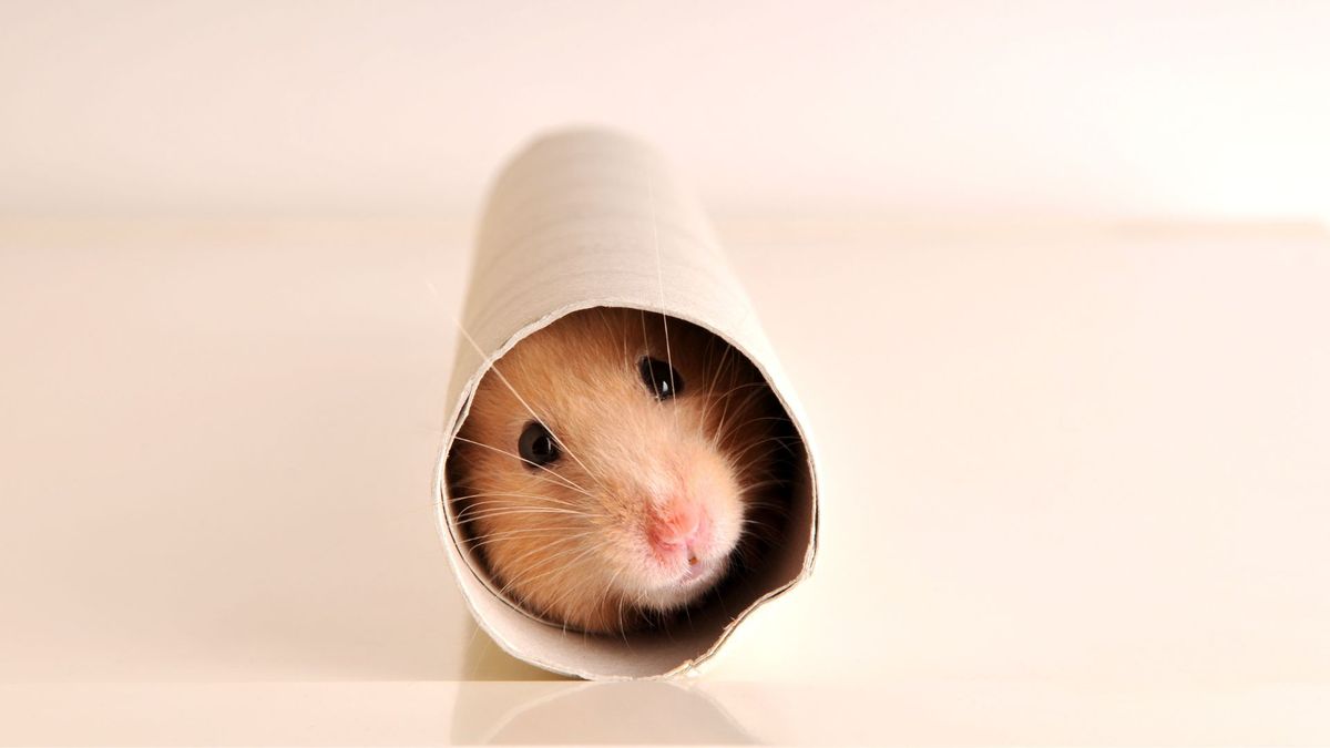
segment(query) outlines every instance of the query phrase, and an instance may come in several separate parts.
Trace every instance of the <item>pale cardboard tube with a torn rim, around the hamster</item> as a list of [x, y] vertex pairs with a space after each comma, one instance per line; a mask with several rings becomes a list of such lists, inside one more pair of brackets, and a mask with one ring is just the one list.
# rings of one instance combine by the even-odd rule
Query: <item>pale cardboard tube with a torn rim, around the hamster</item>
[[[693, 612], [684, 630], [628, 636], [564, 631], [500, 598], [460, 543], [447, 459], [476, 385], [524, 337], [595, 306], [662, 311], [720, 335], [762, 371], [802, 441], [783, 542], [755, 576], [735, 587], [742, 592]], [[527, 146], [489, 194], [460, 322], [435, 479], [438, 520], [467, 604], [505, 651], [587, 679], [678, 673], [714, 654], [749, 612], [811, 571], [817, 478], [806, 419], [701, 208], [654, 150], [605, 130], [556, 132]]]

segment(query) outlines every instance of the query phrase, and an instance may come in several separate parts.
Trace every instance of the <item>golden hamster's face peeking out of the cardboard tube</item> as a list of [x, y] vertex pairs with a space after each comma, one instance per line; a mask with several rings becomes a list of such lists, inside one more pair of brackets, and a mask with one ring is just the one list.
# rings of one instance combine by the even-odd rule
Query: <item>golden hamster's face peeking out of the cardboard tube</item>
[[779, 536], [790, 421], [712, 333], [575, 311], [476, 387], [448, 459], [464, 542], [500, 594], [565, 628], [664, 626]]

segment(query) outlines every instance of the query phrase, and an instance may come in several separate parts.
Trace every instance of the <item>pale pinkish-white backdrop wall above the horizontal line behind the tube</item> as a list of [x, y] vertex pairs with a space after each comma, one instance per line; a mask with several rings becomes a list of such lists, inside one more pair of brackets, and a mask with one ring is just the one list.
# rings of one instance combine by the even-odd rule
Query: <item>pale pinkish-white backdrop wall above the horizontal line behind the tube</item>
[[722, 213], [1330, 216], [1330, 4], [0, 4], [0, 214], [469, 218], [567, 122]]

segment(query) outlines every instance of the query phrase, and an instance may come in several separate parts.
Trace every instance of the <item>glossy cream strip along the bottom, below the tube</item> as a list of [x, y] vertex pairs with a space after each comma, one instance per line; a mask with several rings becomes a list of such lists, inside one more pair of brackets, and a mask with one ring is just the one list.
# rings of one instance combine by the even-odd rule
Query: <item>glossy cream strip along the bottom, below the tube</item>
[[0, 684], [0, 744], [1325, 745], [1327, 700], [1007, 680]]

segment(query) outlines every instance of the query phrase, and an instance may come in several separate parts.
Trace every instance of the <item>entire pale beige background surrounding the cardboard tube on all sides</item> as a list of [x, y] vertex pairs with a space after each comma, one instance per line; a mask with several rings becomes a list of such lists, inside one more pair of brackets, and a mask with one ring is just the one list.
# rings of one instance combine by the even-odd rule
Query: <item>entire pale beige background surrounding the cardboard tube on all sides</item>
[[[0, 743], [1330, 743], [1326, 5], [0, 13]], [[569, 120], [823, 453], [685, 688], [523, 683], [435, 536], [471, 210]]]

